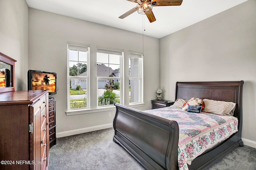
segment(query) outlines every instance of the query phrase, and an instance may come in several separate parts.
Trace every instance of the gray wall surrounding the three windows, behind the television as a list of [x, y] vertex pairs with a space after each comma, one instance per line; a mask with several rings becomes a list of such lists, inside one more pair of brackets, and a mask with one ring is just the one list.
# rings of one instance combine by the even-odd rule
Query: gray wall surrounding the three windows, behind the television
[[[142, 28], [142, 26], [141, 26]], [[56, 123], [57, 137], [95, 130], [91, 127], [112, 127], [115, 108], [111, 111], [66, 115], [67, 111], [67, 42], [90, 44], [91, 100], [96, 108], [96, 46], [124, 49], [124, 67], [128, 71], [129, 50], [142, 52], [142, 35], [132, 32], [78, 20], [42, 10], [29, 8], [29, 69], [46, 70], [57, 73]], [[154, 48], [152, 48], [154, 47]], [[151, 109], [151, 99], [160, 86], [159, 39], [144, 36], [144, 107]], [[128, 72], [124, 75], [128, 89]], [[129, 91], [125, 94], [129, 95]], [[127, 100], [128, 101], [128, 100]], [[129, 103], [125, 103], [128, 105]], [[112, 113], [108, 117], [108, 113]], [[97, 129], [97, 128], [96, 128]]]

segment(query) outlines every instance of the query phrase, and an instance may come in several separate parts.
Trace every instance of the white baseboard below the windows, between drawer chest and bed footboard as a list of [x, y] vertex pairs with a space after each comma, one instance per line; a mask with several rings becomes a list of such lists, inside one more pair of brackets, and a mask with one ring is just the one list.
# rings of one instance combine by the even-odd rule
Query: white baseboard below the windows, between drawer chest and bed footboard
[[71, 136], [74, 134], [92, 132], [95, 130], [102, 130], [102, 129], [111, 128], [111, 127], [113, 127], [113, 123], [109, 123], [109, 124], [105, 124], [105, 125], [98, 125], [98, 126], [94, 126], [94, 127], [80, 128], [80, 129], [75, 129], [75, 130], [68, 130], [68, 131], [56, 133], [56, 138]]

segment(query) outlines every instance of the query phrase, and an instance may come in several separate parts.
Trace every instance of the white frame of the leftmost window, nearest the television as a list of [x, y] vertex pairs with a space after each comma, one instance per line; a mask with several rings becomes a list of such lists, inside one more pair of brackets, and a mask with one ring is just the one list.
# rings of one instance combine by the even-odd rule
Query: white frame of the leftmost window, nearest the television
[[[70, 76], [69, 75], [69, 50], [87, 51], [87, 76]], [[68, 111], [90, 109], [90, 45], [84, 43], [68, 42], [67, 45], [67, 95], [68, 95]], [[78, 56], [79, 57], [79, 56]], [[78, 58], [79, 60], [79, 58]], [[86, 99], [87, 107], [70, 109], [70, 79], [86, 79]]]

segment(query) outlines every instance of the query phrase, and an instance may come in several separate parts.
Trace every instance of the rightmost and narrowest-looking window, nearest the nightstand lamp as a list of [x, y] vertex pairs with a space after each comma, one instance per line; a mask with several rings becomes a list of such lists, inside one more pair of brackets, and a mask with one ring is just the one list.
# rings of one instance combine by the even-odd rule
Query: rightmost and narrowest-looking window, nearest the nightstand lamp
[[129, 51], [129, 103], [142, 103], [142, 53]]

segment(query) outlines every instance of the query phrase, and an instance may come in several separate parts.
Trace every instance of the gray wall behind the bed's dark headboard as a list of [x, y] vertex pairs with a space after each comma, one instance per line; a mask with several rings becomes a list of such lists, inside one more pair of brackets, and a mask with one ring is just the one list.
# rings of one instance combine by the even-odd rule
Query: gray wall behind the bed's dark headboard
[[[176, 81], [240, 81], [242, 138], [256, 147], [256, 0], [160, 39], [160, 85], [174, 100]], [[247, 140], [245, 140], [247, 139]]]

